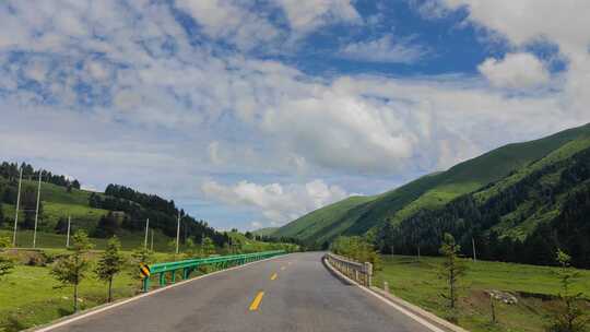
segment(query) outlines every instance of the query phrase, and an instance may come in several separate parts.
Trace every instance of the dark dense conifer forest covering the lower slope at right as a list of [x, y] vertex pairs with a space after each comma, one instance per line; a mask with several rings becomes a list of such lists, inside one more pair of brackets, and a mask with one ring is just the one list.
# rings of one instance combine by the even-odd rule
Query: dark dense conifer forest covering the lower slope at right
[[[543, 180], [548, 176], [553, 181]], [[531, 171], [522, 179], [485, 198], [483, 189], [461, 195], [436, 210], [422, 210], [394, 224], [387, 222], [376, 239], [386, 253], [437, 254], [445, 233], [461, 253], [486, 260], [556, 265], [554, 252], [571, 256], [571, 265], [590, 268], [590, 149]], [[527, 204], [524, 204], [527, 203]], [[506, 236], [497, 225], [514, 228], [534, 220], [539, 211], [555, 211], [548, 221], [522, 236]], [[509, 217], [507, 217], [509, 216]]]

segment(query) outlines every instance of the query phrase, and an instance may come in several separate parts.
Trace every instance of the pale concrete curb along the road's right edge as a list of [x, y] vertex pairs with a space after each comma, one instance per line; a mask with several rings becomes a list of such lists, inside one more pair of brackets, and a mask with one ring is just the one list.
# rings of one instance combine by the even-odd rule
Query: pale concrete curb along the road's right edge
[[330, 265], [330, 263], [322, 258], [322, 262], [326, 265], [326, 268], [337, 277], [344, 281], [346, 284], [355, 285], [359, 287], [361, 289], [374, 295], [375, 297], [381, 299], [382, 301], [386, 301], [391, 307], [397, 309], [398, 311], [401, 311], [402, 313], [409, 316], [410, 318], [414, 319], [418, 323], [425, 325], [426, 328], [430, 329], [434, 332], [469, 332], [468, 330], [457, 327], [452, 324], [449, 321], [446, 321], [441, 319], [440, 317], [426, 311], [415, 305], [412, 305], [397, 296], [393, 296], [391, 294], [386, 293], [385, 290], [381, 290], [377, 287], [365, 287], [357, 282], [351, 280], [346, 275], [344, 275], [342, 272], [338, 271], [334, 266]]

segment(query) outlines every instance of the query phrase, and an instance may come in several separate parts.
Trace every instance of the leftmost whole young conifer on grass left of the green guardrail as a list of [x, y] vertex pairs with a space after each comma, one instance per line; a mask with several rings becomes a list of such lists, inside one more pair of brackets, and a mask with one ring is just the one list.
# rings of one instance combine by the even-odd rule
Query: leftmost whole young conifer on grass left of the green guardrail
[[72, 236], [72, 253], [60, 259], [51, 274], [62, 284], [62, 286], [73, 286], [73, 310], [78, 311], [78, 286], [86, 276], [90, 262], [84, 257], [87, 250], [92, 249], [88, 236], [83, 230], [78, 230]]

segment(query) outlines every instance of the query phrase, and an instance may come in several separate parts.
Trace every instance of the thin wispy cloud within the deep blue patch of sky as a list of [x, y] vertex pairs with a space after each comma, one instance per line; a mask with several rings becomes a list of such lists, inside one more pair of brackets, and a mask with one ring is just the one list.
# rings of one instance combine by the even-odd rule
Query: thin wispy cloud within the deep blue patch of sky
[[352, 43], [340, 50], [344, 58], [368, 62], [413, 63], [423, 58], [427, 51], [408, 40], [393, 40], [392, 36], [379, 39]]

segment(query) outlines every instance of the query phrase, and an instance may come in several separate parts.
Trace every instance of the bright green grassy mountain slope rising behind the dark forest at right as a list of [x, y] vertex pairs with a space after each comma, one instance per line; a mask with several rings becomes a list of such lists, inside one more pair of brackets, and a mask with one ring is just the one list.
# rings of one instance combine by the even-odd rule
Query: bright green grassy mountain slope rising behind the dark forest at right
[[[374, 197], [349, 198], [316, 210], [279, 228], [273, 236], [326, 244], [339, 235], [361, 235], [391, 222], [400, 224], [424, 210], [436, 210], [453, 199], [499, 181], [552, 153], [570, 155], [587, 146], [590, 124], [524, 143], [502, 146], [450, 169], [421, 177]], [[558, 150], [560, 152], [557, 152]]]

